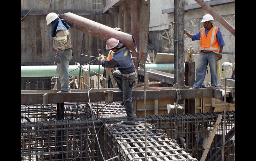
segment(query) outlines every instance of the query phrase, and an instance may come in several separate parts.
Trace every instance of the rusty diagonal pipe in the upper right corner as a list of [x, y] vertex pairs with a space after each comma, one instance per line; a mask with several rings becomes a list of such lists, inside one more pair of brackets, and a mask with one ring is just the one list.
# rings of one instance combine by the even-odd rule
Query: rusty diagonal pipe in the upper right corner
[[206, 4], [203, 0], [195, 0], [204, 10], [209, 12], [218, 22], [221, 23], [231, 34], [236, 36], [236, 29], [230, 25], [223, 17], [221, 17], [216, 11], [211, 8], [208, 4]]

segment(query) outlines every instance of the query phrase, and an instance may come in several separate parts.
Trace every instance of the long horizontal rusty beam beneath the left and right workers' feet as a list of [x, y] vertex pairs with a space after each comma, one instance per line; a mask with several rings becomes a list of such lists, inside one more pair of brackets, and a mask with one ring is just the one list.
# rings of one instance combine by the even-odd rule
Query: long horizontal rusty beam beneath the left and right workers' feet
[[[86, 89], [84, 89], [86, 91]], [[106, 89], [101, 89], [106, 90]], [[110, 90], [110, 89], [109, 89]], [[202, 89], [181, 89], [180, 95], [183, 99], [191, 98], [209, 98], [216, 97], [217, 91], [213, 88], [202, 88]], [[53, 91], [53, 90], [49, 90]], [[87, 90], [88, 91], [88, 90]], [[219, 91], [222, 93], [221, 91]], [[218, 93], [217, 93], [218, 94]], [[176, 90], [147, 90], [147, 100], [166, 100], [166, 99], [177, 99]], [[104, 91], [101, 92], [71, 92], [71, 93], [21, 93], [21, 104], [42, 104], [49, 103], [62, 103], [62, 102], [88, 102], [90, 101], [104, 101]], [[123, 91], [113, 92], [113, 101], [123, 100]], [[144, 90], [132, 91], [133, 100], [144, 100]]]

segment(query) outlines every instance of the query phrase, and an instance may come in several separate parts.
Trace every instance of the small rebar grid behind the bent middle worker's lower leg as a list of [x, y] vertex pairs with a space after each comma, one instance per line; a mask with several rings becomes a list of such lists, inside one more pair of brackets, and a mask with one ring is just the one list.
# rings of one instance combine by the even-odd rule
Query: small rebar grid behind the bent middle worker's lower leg
[[120, 102], [113, 102], [106, 105], [105, 102], [91, 102], [91, 109], [94, 117], [98, 118], [113, 118], [113, 117], [125, 117], [126, 108]]

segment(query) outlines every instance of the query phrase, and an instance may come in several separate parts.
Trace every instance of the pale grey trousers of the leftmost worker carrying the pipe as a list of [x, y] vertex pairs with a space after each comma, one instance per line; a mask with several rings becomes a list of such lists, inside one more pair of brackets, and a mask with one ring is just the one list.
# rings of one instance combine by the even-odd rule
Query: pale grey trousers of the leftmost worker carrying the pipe
[[72, 49], [67, 49], [64, 51], [62, 57], [61, 57], [61, 63], [57, 64], [57, 74], [59, 74], [59, 80], [61, 83], [61, 91], [62, 92], [68, 92], [71, 91], [69, 86], [69, 73], [68, 73], [68, 67], [69, 67], [69, 61], [72, 58]]

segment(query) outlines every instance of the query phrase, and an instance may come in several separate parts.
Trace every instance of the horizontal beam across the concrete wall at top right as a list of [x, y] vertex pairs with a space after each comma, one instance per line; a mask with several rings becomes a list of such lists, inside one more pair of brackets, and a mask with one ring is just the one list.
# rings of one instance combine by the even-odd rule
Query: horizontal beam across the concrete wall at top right
[[[211, 1], [206, 1], [205, 3], [207, 3], [209, 6], [219, 6], [219, 5], [228, 4], [228, 3], [235, 3], [235, 0], [211, 0]], [[202, 7], [199, 4], [194, 3], [194, 4], [186, 5], [184, 10], [189, 11], [189, 10], [194, 10], [199, 8], [202, 8]], [[174, 13], [174, 7], [162, 10], [162, 14], [165, 14], [165, 13], [167, 14]]]

